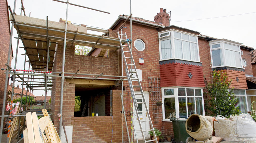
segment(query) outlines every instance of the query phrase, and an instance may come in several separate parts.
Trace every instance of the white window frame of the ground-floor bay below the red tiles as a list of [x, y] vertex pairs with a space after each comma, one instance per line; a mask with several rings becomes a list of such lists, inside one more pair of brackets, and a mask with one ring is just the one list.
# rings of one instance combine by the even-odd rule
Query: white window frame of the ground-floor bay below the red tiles
[[[185, 88], [185, 96], [178, 96], [178, 88]], [[173, 89], [174, 95], [164, 95], [165, 89]], [[194, 96], [187, 96], [187, 90], [186, 89], [194, 89]], [[195, 96], [195, 89], [201, 89], [201, 96]], [[197, 88], [197, 87], [164, 87], [162, 90], [162, 112], [163, 112], [163, 121], [171, 122], [170, 119], [165, 119], [165, 106], [164, 106], [164, 98], [175, 98], [175, 111], [176, 111], [176, 118], [179, 118], [179, 97], [186, 98], [186, 113], [188, 117], [188, 107], [187, 107], [187, 98], [193, 97], [194, 103], [195, 103], [195, 113], [197, 113], [196, 109], [196, 98], [202, 98], [202, 112], [203, 115], [205, 115], [205, 108], [204, 108], [204, 96], [203, 96], [203, 88]]]

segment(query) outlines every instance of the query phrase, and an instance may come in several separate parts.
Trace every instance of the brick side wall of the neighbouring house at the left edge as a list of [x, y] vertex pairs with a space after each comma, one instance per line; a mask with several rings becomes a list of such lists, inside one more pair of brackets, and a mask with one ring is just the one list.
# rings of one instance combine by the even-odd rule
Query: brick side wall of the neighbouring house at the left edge
[[[8, 11], [8, 3], [7, 0], [0, 1], [0, 65], [1, 68], [6, 67], [7, 59], [8, 59], [8, 50], [9, 50], [9, 42], [10, 42], [10, 24], [9, 24], [9, 11]], [[10, 56], [10, 64], [13, 58], [13, 52]], [[5, 87], [5, 74], [4, 70], [0, 70], [0, 107], [3, 107], [3, 98], [4, 98], [4, 87]], [[8, 80], [9, 82], [9, 80]], [[5, 93], [7, 94], [7, 93]], [[8, 96], [6, 95], [6, 101]], [[2, 115], [2, 110], [0, 111]], [[6, 115], [6, 114], [5, 114]]]

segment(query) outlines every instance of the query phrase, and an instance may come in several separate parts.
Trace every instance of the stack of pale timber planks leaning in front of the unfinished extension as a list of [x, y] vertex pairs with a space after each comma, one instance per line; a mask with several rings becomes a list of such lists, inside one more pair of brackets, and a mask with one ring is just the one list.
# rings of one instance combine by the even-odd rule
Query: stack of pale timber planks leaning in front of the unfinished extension
[[[27, 128], [23, 131], [24, 142], [28, 143], [60, 143], [60, 137], [52, 124], [46, 109], [42, 109], [44, 117], [38, 119], [36, 112], [26, 114]], [[46, 136], [45, 136], [45, 134]]]

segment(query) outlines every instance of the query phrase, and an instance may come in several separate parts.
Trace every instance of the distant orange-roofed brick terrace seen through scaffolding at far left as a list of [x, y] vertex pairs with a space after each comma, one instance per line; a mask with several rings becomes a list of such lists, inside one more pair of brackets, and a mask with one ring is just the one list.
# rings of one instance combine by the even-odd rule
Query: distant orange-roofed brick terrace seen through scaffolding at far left
[[[12, 86], [13, 86], [13, 83], [8, 85], [8, 90], [12, 91]], [[23, 89], [21, 89], [21, 88], [19, 88], [19, 85], [17, 85], [17, 87], [14, 86], [13, 99], [21, 98], [22, 90], [23, 90], [23, 98], [24, 97], [26, 98], [26, 95], [27, 95], [27, 98], [33, 97], [33, 99], [36, 100], [36, 96], [34, 94], [32, 94], [31, 91], [29, 91], [29, 89], [27, 92], [27, 90], [25, 90], [25, 87]], [[11, 95], [9, 95], [9, 99], [11, 98], [10, 96]]]

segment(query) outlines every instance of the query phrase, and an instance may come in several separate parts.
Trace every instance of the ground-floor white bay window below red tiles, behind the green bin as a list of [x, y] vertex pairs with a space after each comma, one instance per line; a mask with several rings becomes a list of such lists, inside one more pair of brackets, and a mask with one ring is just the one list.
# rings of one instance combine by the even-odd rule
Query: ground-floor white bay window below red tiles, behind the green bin
[[163, 120], [188, 118], [192, 114], [204, 115], [202, 89], [162, 88]]

